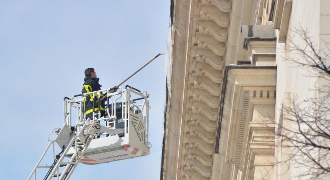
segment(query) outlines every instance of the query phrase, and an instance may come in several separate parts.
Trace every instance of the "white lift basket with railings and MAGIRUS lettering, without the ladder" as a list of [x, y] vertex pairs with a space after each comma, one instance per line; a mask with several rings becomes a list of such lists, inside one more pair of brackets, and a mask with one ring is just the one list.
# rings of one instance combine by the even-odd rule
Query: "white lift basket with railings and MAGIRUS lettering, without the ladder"
[[[79, 132], [85, 119], [83, 102], [90, 98], [90, 94], [98, 96], [98, 99], [101, 98], [101, 93], [106, 94], [108, 99], [105, 108], [106, 115], [101, 117], [100, 111], [95, 111], [93, 112], [94, 121], [98, 121], [101, 125], [104, 124], [108, 129], [122, 131], [122, 133], [109, 135], [105, 132], [106, 130], [101, 130], [89, 145], [84, 157], [80, 160], [81, 163], [94, 165], [149, 154], [151, 144], [148, 142], [150, 108], [147, 100], [148, 93], [131, 86], [116, 89], [117, 91], [113, 93], [111, 93], [112, 89], [107, 89], [83, 94], [82, 99], [75, 99], [79, 97], [76, 96], [64, 100], [64, 121], [68, 126], [72, 126], [72, 110], [75, 109], [78, 117], [75, 129]], [[96, 101], [96, 103], [99, 102]], [[71, 147], [67, 156], [73, 154], [74, 151], [75, 147]]]

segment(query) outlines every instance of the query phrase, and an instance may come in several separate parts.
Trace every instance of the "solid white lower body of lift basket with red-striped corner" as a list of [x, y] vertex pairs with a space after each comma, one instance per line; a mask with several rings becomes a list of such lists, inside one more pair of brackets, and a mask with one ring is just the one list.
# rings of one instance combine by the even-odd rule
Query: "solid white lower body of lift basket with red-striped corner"
[[[107, 134], [105, 133], [99, 138], [93, 139], [80, 162], [95, 165], [148, 155], [150, 145], [146, 141], [147, 133], [142, 115], [130, 112], [129, 119], [128, 132], [123, 137], [118, 134], [106, 137]], [[74, 151], [72, 147], [67, 156], [71, 156]]]

